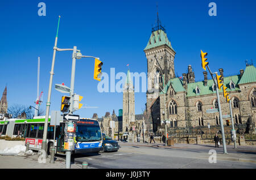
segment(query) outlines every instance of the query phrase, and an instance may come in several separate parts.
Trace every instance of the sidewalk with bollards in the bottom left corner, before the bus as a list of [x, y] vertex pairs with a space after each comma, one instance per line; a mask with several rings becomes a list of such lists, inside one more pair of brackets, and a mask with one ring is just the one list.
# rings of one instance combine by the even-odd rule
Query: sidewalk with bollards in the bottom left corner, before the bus
[[[40, 163], [38, 155], [33, 156], [3, 156], [0, 155], [0, 169], [65, 169], [65, 160], [55, 158], [55, 163], [49, 163], [51, 158], [46, 158], [46, 163]], [[39, 159], [39, 160], [38, 160]], [[41, 160], [42, 161], [42, 160]], [[70, 169], [82, 169], [81, 164], [71, 164]], [[88, 169], [90, 167], [88, 166]]]

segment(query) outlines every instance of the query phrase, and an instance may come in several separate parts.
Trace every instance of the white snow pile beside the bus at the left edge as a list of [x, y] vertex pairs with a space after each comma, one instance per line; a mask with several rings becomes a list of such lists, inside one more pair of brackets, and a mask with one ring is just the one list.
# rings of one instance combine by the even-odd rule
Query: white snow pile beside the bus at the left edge
[[0, 150], [0, 155], [30, 156], [34, 155], [34, 153], [31, 150], [28, 150], [26, 152], [25, 145], [15, 145], [12, 148], [5, 148], [3, 150]]

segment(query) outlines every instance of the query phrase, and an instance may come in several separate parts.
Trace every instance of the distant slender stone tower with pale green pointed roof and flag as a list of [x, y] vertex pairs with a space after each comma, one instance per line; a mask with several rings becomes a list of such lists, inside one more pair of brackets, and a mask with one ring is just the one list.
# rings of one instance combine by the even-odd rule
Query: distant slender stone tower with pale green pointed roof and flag
[[123, 88], [123, 132], [129, 132], [131, 124], [135, 122], [134, 88], [130, 70], [127, 71], [126, 83]]

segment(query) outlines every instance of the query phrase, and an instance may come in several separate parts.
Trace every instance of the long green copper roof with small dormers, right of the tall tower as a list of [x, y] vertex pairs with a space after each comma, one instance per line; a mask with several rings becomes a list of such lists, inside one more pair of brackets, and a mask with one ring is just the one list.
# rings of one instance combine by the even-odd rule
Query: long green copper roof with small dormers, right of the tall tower
[[[231, 89], [230, 82], [233, 82], [235, 84], [235, 88]], [[234, 76], [228, 76], [224, 77], [224, 85], [227, 87], [226, 91], [237, 91], [240, 88], [238, 87], [238, 82], [240, 81], [240, 75], [234, 75]], [[196, 93], [196, 87], [200, 89], [200, 93]], [[204, 82], [195, 82], [195, 83], [188, 83], [188, 91], [187, 91], [187, 97], [192, 96], [201, 96], [201, 95], [210, 95], [216, 93], [216, 91], [213, 91], [213, 80], [209, 79], [207, 81], [207, 85], [204, 86]], [[218, 89], [218, 92], [223, 92], [223, 89], [221, 87], [221, 90]]]

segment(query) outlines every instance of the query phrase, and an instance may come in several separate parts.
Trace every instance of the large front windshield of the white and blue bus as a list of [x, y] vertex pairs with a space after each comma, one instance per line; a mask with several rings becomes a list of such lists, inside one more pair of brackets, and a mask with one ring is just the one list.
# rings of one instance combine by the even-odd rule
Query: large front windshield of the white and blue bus
[[77, 125], [77, 142], [95, 142], [101, 140], [100, 126]]

